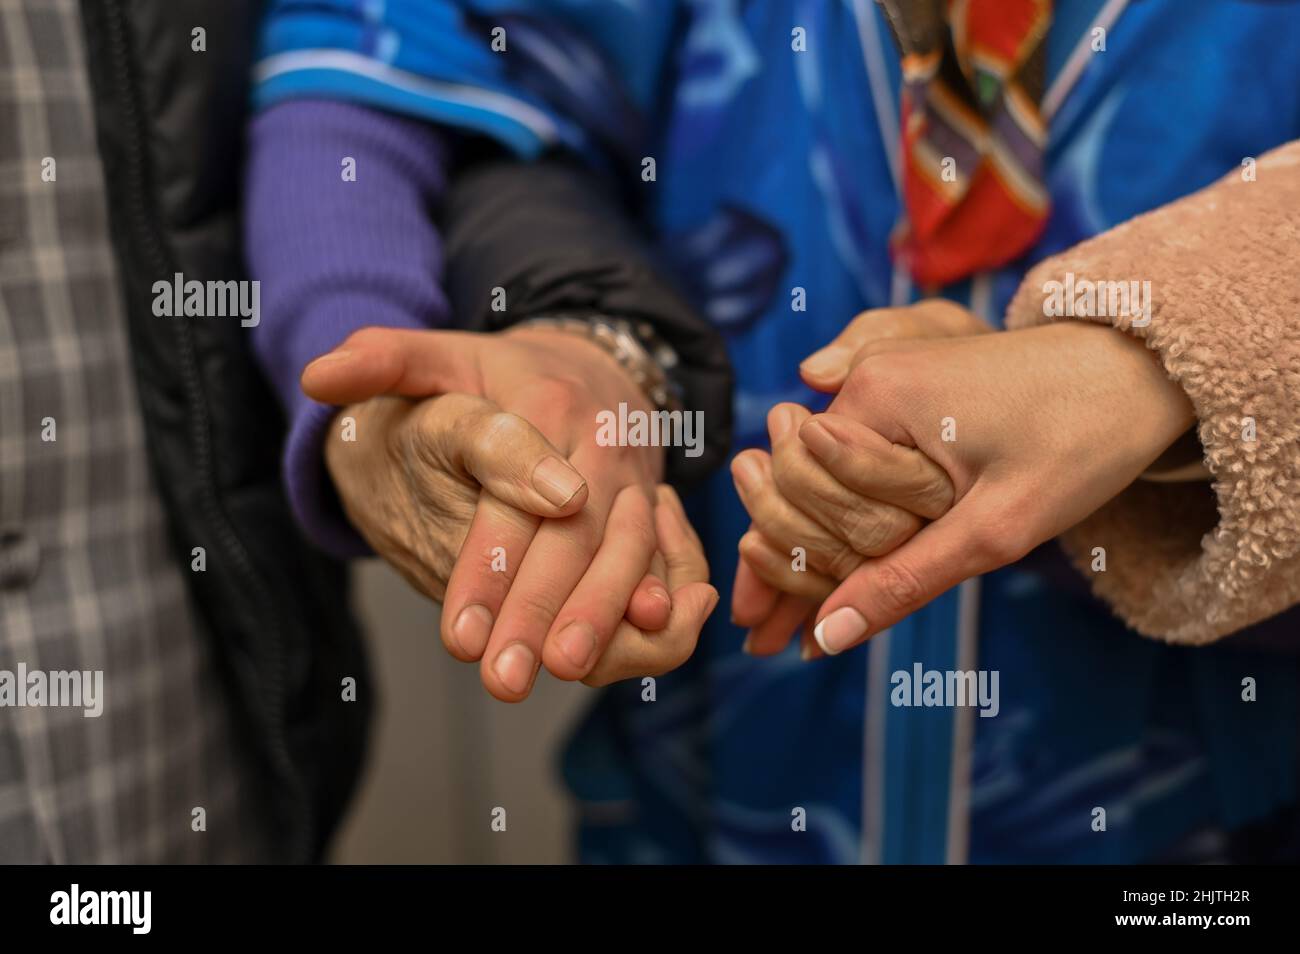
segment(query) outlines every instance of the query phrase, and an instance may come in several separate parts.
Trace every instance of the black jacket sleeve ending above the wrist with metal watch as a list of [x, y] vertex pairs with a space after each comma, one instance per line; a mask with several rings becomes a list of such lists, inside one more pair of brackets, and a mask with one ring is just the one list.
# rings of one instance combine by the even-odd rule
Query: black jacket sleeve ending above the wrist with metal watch
[[[682, 407], [703, 411], [698, 458], [666, 455], [690, 486], [731, 447], [732, 370], [722, 337], [681, 296], [607, 183], [572, 160], [488, 159], [454, 178], [439, 221], [458, 326], [495, 331], [556, 312], [649, 322], [677, 352]], [[506, 311], [493, 311], [493, 289]]]

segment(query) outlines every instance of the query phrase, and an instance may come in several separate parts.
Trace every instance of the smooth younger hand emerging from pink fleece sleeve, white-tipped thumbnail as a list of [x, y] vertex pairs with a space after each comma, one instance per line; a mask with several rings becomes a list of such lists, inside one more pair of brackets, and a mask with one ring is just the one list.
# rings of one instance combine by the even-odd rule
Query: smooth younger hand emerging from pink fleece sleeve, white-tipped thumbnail
[[845, 578], [818, 611], [818, 645], [841, 652], [1014, 563], [1115, 496], [1193, 420], [1145, 346], [1101, 325], [879, 350], [800, 439], [840, 474], [871, 467], [861, 448], [880, 438], [915, 447], [948, 473], [956, 503]]

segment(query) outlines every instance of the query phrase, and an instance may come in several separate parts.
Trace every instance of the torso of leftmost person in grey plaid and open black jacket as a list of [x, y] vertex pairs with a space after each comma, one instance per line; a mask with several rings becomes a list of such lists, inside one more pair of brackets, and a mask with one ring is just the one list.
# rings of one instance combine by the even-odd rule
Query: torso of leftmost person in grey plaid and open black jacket
[[0, 678], [104, 685], [99, 717], [0, 704], [0, 863], [311, 860], [359, 767], [344, 587], [239, 326], [150, 308], [173, 272], [242, 277], [248, 17], [0, 0]]

